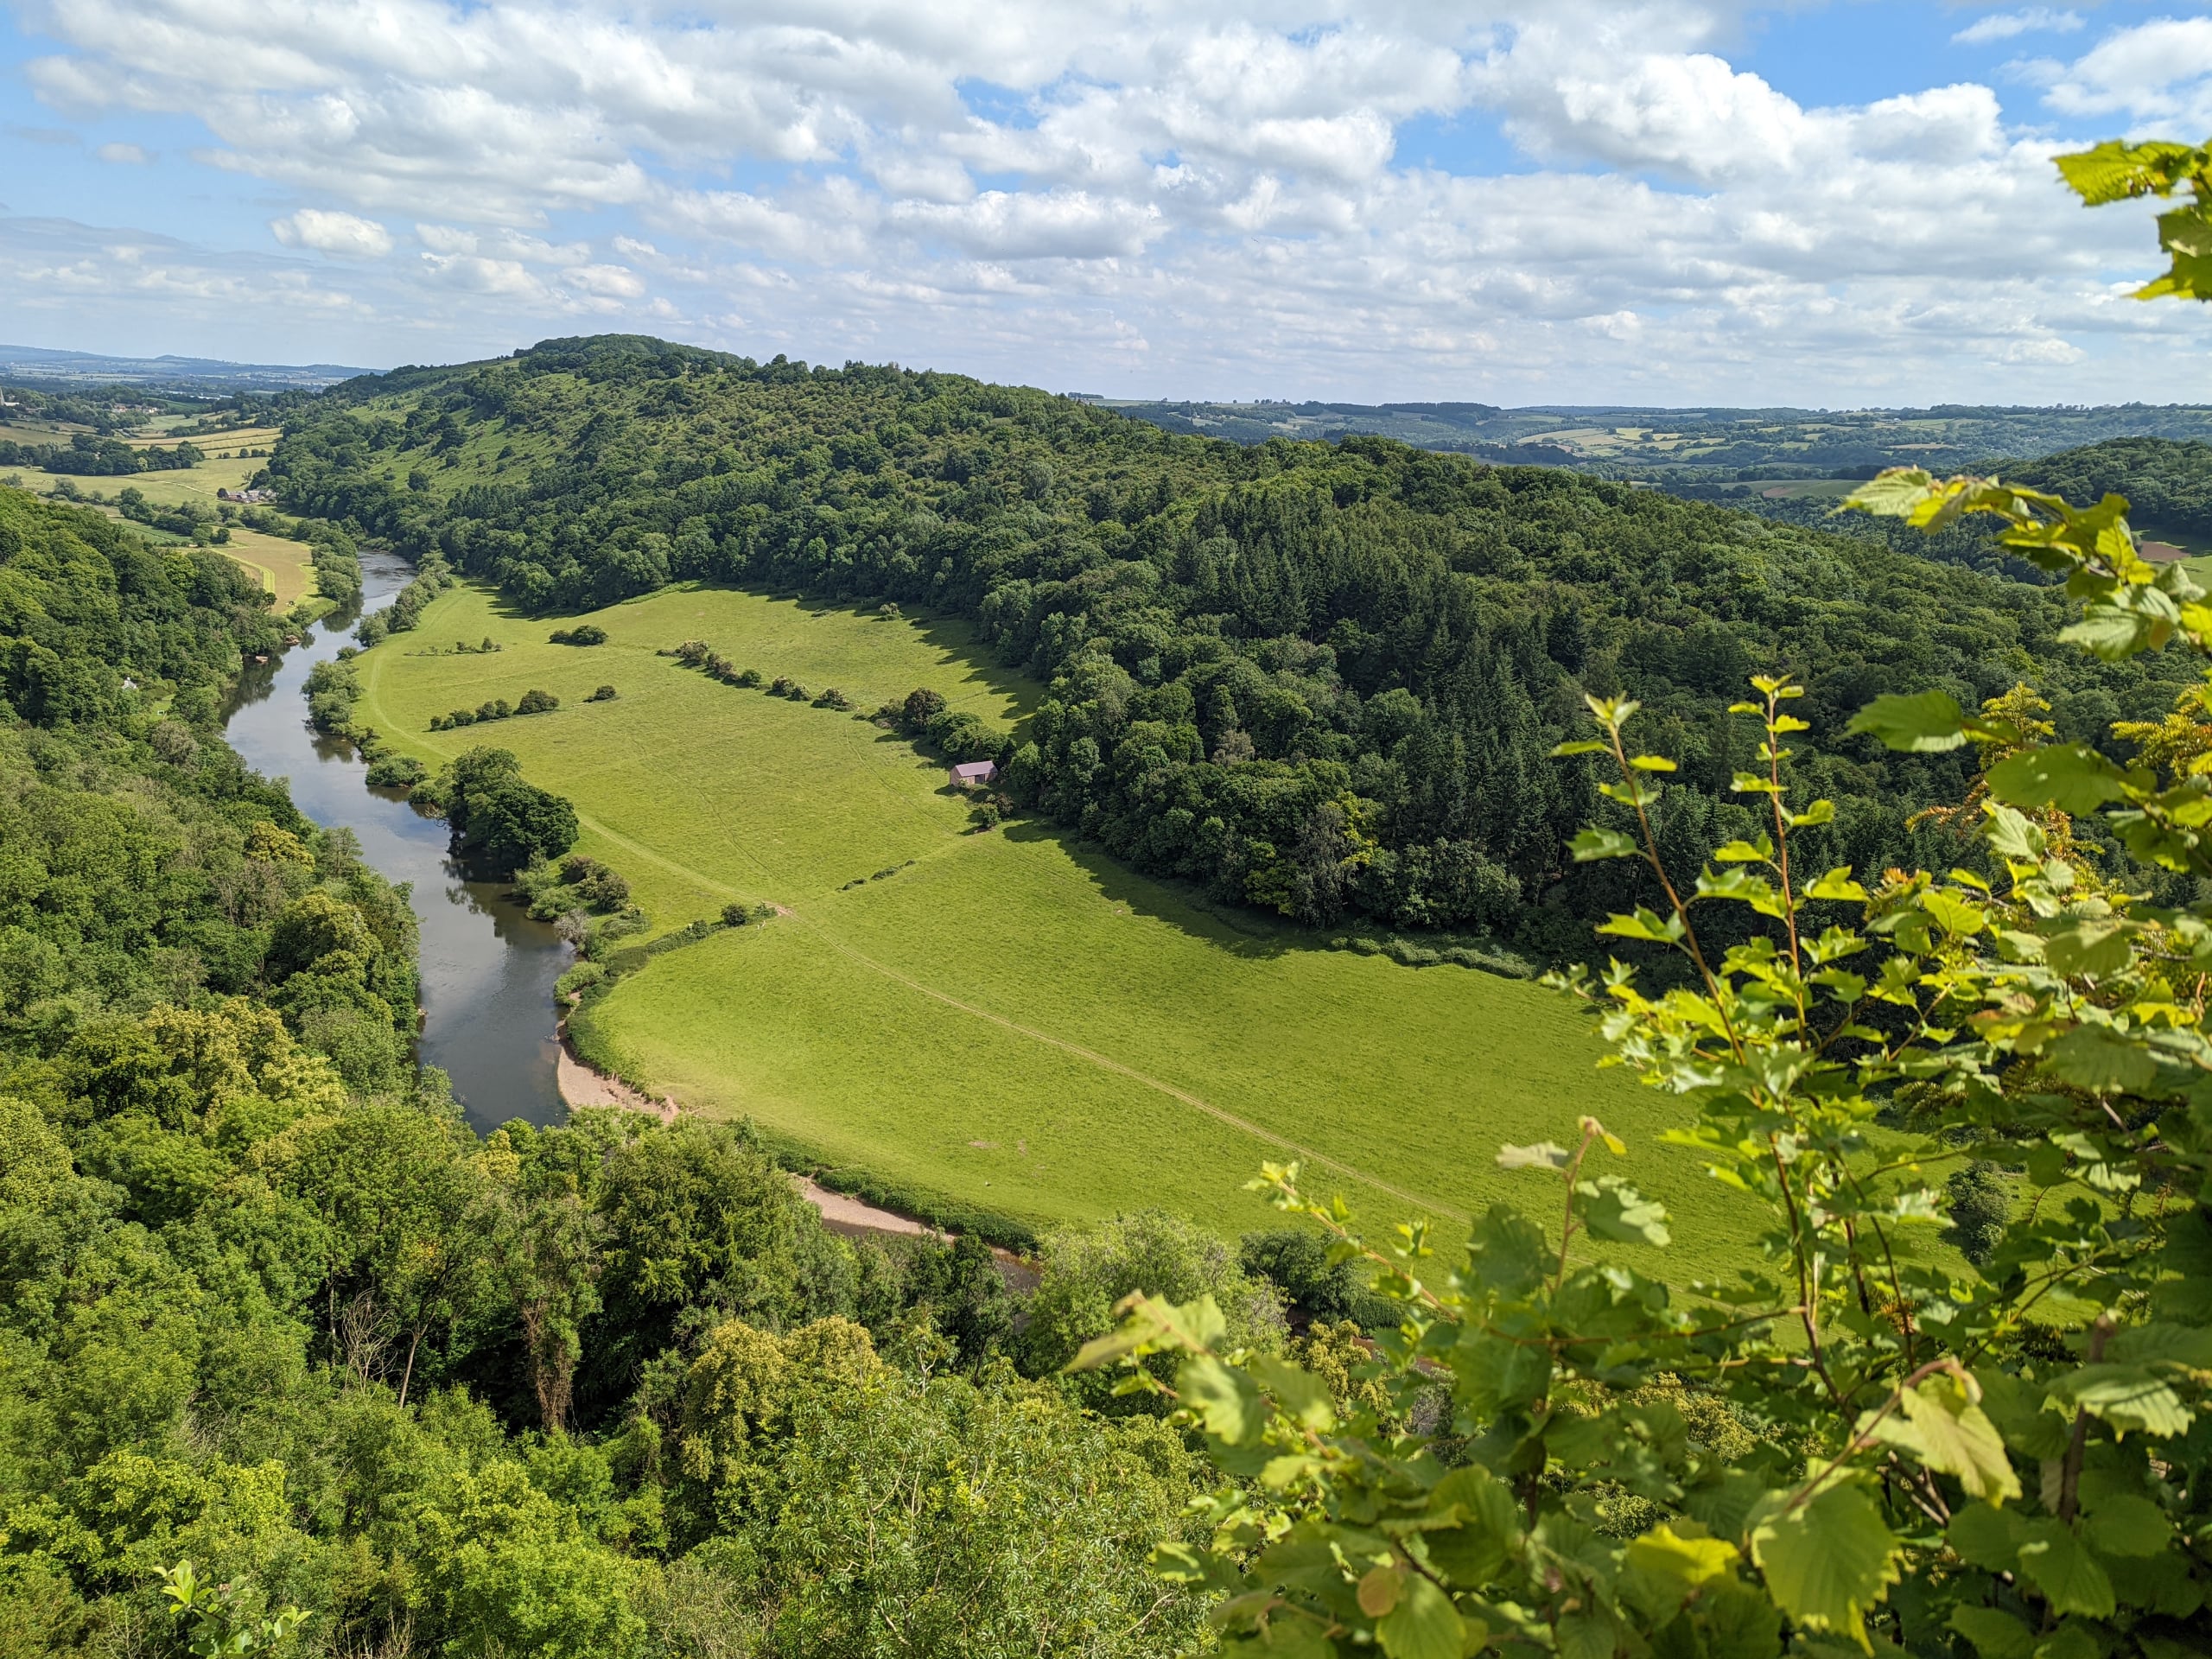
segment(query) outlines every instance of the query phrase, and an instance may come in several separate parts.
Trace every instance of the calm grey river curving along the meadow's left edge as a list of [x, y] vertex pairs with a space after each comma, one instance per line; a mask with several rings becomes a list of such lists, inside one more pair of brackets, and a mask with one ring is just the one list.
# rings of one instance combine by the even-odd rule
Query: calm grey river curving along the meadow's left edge
[[555, 1082], [553, 980], [568, 947], [502, 894], [502, 883], [465, 880], [447, 854], [442, 818], [407, 805], [398, 790], [372, 790], [352, 743], [307, 726], [307, 670], [338, 655], [361, 608], [405, 586], [407, 564], [363, 553], [363, 602], [332, 613], [270, 664], [246, 664], [223, 737], [263, 776], [290, 779], [292, 801], [325, 827], [347, 827], [361, 856], [405, 883], [422, 922], [420, 1055], [453, 1079], [453, 1097], [478, 1130], [511, 1117], [566, 1117]]

